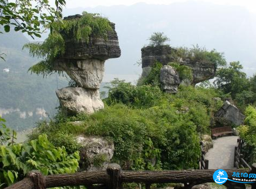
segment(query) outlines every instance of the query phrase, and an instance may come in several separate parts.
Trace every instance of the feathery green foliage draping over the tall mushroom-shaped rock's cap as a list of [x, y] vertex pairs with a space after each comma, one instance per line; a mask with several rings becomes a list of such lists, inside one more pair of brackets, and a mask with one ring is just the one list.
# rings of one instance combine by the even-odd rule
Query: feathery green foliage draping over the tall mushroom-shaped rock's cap
[[83, 12], [82, 17], [56, 21], [51, 24], [51, 33], [43, 43], [28, 43], [23, 48], [28, 48], [33, 57], [44, 60], [33, 65], [31, 73], [51, 75], [53, 71], [52, 62], [65, 53], [65, 39], [73, 38], [86, 43], [93, 42], [97, 37], [107, 37], [107, 31], [112, 31], [107, 18], [99, 14]]

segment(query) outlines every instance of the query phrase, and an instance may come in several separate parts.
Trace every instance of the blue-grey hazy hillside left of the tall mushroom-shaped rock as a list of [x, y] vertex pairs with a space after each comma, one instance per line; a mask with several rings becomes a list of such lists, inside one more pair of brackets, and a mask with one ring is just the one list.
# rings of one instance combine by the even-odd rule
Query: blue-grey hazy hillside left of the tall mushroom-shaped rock
[[43, 79], [27, 72], [37, 59], [22, 50], [29, 42], [22, 33], [0, 34], [0, 42], [0, 52], [6, 54], [6, 62], [0, 60], [0, 116], [6, 119], [6, 125], [24, 130], [48, 115], [54, 116], [58, 106], [55, 90], [68, 81], [55, 75]]

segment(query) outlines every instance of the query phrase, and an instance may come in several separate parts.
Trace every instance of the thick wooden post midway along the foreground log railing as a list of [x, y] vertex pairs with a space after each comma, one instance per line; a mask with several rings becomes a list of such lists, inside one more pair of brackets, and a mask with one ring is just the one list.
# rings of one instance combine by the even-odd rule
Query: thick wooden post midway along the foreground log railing
[[122, 170], [120, 165], [118, 164], [109, 164], [107, 166], [107, 174], [110, 176], [110, 183], [109, 188], [110, 189], [122, 189], [122, 183], [121, 183], [121, 174]]

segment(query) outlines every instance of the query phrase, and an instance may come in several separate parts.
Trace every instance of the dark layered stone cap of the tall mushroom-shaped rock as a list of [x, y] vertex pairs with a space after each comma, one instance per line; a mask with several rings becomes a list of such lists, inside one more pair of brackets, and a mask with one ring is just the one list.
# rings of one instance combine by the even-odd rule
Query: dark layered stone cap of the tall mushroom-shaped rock
[[[65, 17], [64, 19], [76, 19], [81, 15], [73, 15]], [[95, 58], [99, 60], [106, 60], [109, 58], [118, 58], [121, 55], [119, 48], [117, 32], [115, 24], [110, 23], [112, 31], [107, 32], [107, 37], [97, 37], [90, 40], [90, 43], [77, 42], [74, 38], [66, 38], [66, 52], [63, 58], [68, 59], [87, 59]]]

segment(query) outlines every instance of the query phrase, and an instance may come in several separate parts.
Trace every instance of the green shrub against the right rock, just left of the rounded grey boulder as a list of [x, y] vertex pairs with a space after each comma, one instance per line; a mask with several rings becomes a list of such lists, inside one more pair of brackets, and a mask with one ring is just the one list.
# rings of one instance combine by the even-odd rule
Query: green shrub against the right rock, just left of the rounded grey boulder
[[140, 85], [152, 85], [160, 87], [160, 69], [163, 65], [159, 62], [156, 62], [154, 65], [151, 66], [151, 70], [147, 77], [143, 78], [140, 82]]

